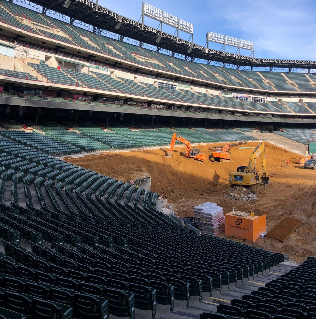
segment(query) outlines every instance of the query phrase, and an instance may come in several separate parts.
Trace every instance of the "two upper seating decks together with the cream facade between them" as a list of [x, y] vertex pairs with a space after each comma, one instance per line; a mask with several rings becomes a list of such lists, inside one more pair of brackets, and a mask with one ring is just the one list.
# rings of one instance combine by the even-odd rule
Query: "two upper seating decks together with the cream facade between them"
[[[46, 95], [51, 96], [84, 94], [96, 101], [103, 96], [125, 100], [125, 104], [129, 99], [136, 106], [145, 102], [165, 109], [198, 108], [207, 114], [215, 108], [252, 115], [316, 115], [316, 74], [243, 71], [193, 63], [4, 0], [0, 0], [0, 13], [7, 37], [0, 41], [4, 85], [42, 89], [40, 82], [45, 82]], [[227, 89], [241, 93], [227, 93]], [[14, 92], [11, 86], [8, 91]]]

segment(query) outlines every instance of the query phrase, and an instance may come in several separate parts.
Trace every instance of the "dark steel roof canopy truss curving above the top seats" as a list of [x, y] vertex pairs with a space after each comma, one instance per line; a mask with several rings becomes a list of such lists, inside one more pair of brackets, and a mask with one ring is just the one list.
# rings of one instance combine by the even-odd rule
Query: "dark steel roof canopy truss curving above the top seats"
[[[12, 1], [12, 0], [10, 0]], [[16, 0], [17, 2], [27, 3], [36, 7], [42, 7], [42, 13], [55, 11], [58, 16], [70, 17], [70, 23], [78, 20], [83, 25], [93, 26], [94, 32], [119, 34], [123, 41], [125, 37], [139, 41], [139, 44], [147, 43], [160, 49], [170, 51], [172, 56], [175, 54], [184, 56], [186, 60], [193, 61], [199, 59], [211, 63], [220, 62], [225, 65], [235, 65], [237, 68], [250, 67], [262, 68], [287, 68], [292, 69], [316, 69], [316, 61], [306, 60], [284, 60], [284, 59], [263, 59], [239, 54], [223, 52], [178, 38], [175, 35], [163, 32], [147, 26], [141, 22], [126, 18], [116, 12], [102, 7], [90, 0], [68, 0], [68, 8], [64, 7], [65, 0]], [[77, 22], [77, 21], [76, 21]]]

